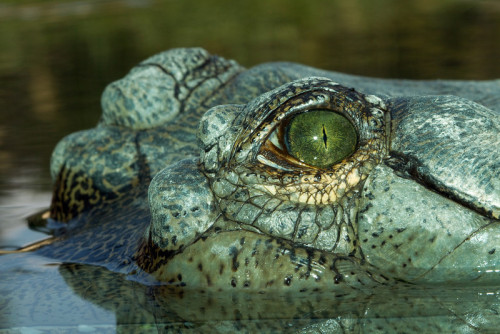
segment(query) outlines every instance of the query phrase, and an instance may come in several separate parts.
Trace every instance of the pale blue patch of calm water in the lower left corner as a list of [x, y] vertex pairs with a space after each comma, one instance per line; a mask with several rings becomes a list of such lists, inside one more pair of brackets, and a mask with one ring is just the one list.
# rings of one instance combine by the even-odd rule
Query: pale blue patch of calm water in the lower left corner
[[114, 327], [114, 313], [76, 295], [60, 275], [59, 262], [31, 253], [2, 256], [0, 261], [0, 333]]

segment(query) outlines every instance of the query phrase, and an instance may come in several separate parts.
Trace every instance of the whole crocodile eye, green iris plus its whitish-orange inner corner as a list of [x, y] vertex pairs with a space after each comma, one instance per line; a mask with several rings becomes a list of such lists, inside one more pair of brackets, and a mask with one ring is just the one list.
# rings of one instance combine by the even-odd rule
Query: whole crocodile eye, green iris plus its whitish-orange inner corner
[[[287, 169], [286, 165], [306, 164], [326, 169], [356, 151], [358, 134], [346, 116], [316, 109], [285, 119], [269, 141], [273, 155], [265, 154], [265, 157], [267, 162], [273, 161], [275, 167]], [[269, 144], [266, 148], [270, 148]]]

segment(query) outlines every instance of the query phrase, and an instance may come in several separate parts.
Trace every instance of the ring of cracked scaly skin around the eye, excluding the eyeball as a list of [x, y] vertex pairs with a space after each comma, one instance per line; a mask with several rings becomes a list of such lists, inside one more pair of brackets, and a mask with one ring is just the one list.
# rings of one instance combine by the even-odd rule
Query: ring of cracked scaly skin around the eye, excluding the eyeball
[[[343, 245], [356, 240], [351, 211], [363, 180], [386, 154], [385, 115], [380, 107], [330, 80], [309, 78], [249, 103], [220, 133], [225, 139], [217, 144], [205, 143], [210, 134], [201, 132], [203, 170], [220, 211], [242, 228], [313, 248], [354, 251], [352, 245]], [[354, 120], [360, 136], [356, 153], [327, 170], [281, 171], [260, 162], [263, 143], [276, 124], [305, 108], [337, 110]], [[207, 113], [202, 128], [216, 117]], [[230, 150], [224, 141], [234, 143]]]

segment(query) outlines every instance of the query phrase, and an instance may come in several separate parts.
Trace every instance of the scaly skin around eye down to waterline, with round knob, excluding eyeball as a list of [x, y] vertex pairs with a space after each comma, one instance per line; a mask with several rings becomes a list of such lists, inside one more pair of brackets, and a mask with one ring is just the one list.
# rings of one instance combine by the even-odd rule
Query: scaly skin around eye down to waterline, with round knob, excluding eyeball
[[[153, 220], [139, 264], [158, 279], [191, 287], [204, 282], [219, 288], [328, 288], [339, 283], [359, 288], [390, 282], [375, 278], [376, 269], [354, 257], [359, 190], [387, 152], [383, 103], [367, 99], [328, 79], [308, 78], [245, 107], [212, 109], [200, 123], [204, 175], [193, 161], [185, 161], [151, 184]], [[276, 124], [305, 111], [304, 106], [336, 110], [352, 119], [360, 137], [357, 152], [329, 170], [284, 172], [259, 162], [261, 146]], [[214, 132], [218, 120], [231, 123], [223, 122]], [[195, 212], [199, 218], [193, 217]], [[227, 254], [216, 255], [217, 249]], [[352, 267], [339, 270], [335, 263], [343, 260]], [[348, 277], [352, 282], [346, 283]]]

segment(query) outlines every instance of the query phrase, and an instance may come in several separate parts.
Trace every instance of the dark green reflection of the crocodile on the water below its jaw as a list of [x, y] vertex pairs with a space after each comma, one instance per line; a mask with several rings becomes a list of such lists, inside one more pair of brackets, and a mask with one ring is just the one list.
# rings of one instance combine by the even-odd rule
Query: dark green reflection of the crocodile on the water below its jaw
[[[117, 326], [158, 332], [470, 332], [500, 326], [498, 287], [401, 287], [365, 294], [220, 293], [145, 286], [103, 268], [65, 264], [74, 292], [116, 314]], [[137, 329], [135, 327], [134, 329]]]

